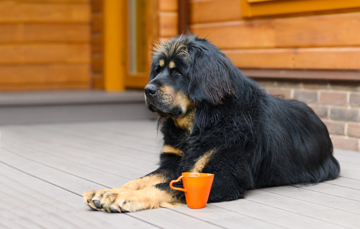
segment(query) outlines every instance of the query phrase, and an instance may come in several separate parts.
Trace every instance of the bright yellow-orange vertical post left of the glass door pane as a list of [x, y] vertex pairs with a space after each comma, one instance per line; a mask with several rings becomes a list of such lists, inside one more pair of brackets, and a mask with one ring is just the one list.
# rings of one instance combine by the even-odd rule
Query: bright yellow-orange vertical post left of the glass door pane
[[104, 87], [125, 90], [125, 1], [104, 0]]

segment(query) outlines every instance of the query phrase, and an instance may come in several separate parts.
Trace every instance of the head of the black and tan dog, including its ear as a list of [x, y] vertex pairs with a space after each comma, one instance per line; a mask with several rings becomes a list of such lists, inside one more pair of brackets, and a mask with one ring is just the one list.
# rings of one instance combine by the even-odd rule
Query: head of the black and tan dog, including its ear
[[145, 101], [161, 116], [182, 118], [201, 102], [219, 104], [232, 93], [231, 61], [206, 39], [179, 36], [158, 45]]

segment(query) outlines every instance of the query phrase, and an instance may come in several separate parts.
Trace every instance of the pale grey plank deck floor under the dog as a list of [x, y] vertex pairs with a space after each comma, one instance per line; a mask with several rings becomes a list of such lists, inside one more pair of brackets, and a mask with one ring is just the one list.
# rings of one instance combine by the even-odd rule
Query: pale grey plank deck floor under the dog
[[0, 228], [360, 228], [360, 153], [336, 150], [341, 176], [247, 198], [126, 214], [92, 211], [85, 190], [157, 168], [154, 121], [1, 126]]

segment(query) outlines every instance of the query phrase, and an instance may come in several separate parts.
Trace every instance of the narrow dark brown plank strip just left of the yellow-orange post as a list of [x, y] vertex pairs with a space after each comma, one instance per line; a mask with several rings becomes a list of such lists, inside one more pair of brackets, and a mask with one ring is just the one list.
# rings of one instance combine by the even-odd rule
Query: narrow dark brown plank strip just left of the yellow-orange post
[[91, 0], [91, 82], [96, 89], [104, 89], [103, 1]]

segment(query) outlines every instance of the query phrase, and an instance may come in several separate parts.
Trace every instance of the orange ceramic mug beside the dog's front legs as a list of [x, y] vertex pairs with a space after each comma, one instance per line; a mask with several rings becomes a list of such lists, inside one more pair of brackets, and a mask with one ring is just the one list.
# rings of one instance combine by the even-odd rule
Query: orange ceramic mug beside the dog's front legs
[[[183, 179], [184, 188], [172, 186], [181, 179]], [[214, 174], [211, 173], [182, 173], [177, 180], [170, 182], [170, 188], [185, 192], [188, 207], [198, 209], [206, 206], [213, 180]]]

